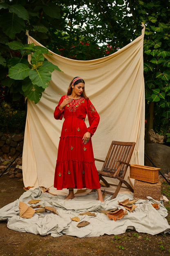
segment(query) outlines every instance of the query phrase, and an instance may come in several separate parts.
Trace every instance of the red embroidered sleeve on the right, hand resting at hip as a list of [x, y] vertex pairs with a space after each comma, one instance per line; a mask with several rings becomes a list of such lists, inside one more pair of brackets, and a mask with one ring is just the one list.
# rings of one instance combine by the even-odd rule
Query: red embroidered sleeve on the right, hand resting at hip
[[96, 108], [93, 106], [92, 102], [89, 99], [87, 100], [87, 116], [90, 125], [87, 128], [87, 131], [89, 131], [92, 136], [98, 127], [100, 116], [98, 115]]

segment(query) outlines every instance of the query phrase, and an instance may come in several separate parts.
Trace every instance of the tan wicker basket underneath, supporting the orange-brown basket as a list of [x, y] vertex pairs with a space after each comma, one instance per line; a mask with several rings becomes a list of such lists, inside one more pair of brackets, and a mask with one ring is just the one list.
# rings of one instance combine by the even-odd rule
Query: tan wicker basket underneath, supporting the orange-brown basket
[[161, 197], [161, 182], [149, 183], [140, 180], [134, 181], [134, 198], [147, 199], [151, 196], [154, 200], [160, 201]]

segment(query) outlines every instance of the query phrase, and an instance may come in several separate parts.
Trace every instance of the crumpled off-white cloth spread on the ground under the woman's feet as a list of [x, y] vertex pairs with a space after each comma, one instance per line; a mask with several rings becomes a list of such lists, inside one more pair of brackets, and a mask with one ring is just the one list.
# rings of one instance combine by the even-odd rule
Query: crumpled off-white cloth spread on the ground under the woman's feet
[[[118, 235], [124, 233], [126, 229], [136, 229], [138, 232], [156, 235], [158, 233], [170, 232], [170, 226], [165, 217], [168, 215], [166, 208], [160, 204], [160, 209], [155, 210], [151, 203], [159, 203], [148, 197], [148, 200], [139, 200], [135, 205], [133, 212], [128, 211], [128, 215], [123, 219], [114, 221], [110, 220], [105, 214], [98, 212], [99, 210], [110, 210], [118, 207], [118, 201], [127, 198], [132, 199], [131, 194], [119, 194], [116, 198], [110, 200], [110, 196], [105, 197], [105, 203], [96, 201], [97, 194], [92, 192], [86, 196], [79, 196], [73, 200], [63, 200], [64, 196], [53, 196], [47, 193], [41, 193], [40, 189], [29, 190], [22, 196], [0, 209], [0, 221], [8, 220], [7, 227], [22, 232], [29, 232], [40, 235], [51, 234], [58, 237], [63, 234], [82, 237], [94, 237], [104, 234]], [[28, 204], [32, 198], [40, 199], [38, 204], [44, 206], [52, 206], [56, 208], [58, 215], [53, 212], [43, 212], [42, 214], [34, 214], [31, 219], [19, 218], [19, 202]], [[95, 212], [96, 217], [87, 215], [78, 215], [83, 212]], [[81, 228], [77, 227], [78, 222], [72, 221], [70, 218], [79, 217], [80, 221], [86, 220], [90, 224]]]

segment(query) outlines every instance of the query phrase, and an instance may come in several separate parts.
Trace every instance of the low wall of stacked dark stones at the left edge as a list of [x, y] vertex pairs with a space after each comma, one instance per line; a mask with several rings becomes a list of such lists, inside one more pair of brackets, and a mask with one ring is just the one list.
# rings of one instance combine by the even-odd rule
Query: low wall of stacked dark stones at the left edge
[[16, 158], [22, 151], [23, 144], [24, 135], [13, 134], [10, 136], [0, 132], [0, 157], [4, 159], [7, 157]]

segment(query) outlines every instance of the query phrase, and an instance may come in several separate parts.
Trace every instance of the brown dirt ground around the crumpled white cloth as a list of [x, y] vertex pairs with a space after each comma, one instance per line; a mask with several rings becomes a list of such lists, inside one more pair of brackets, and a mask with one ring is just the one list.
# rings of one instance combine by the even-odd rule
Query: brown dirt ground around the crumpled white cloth
[[[15, 201], [23, 194], [23, 182], [19, 178], [0, 177], [0, 208]], [[170, 199], [170, 185], [163, 182], [162, 193]], [[170, 204], [164, 203], [168, 210], [170, 224]], [[155, 220], [156, 221], [156, 220]], [[164, 256], [170, 255], [170, 234], [148, 235], [136, 231], [126, 231], [121, 235], [76, 238], [63, 235], [52, 238], [22, 233], [7, 228], [7, 221], [0, 222], [0, 256]]]

